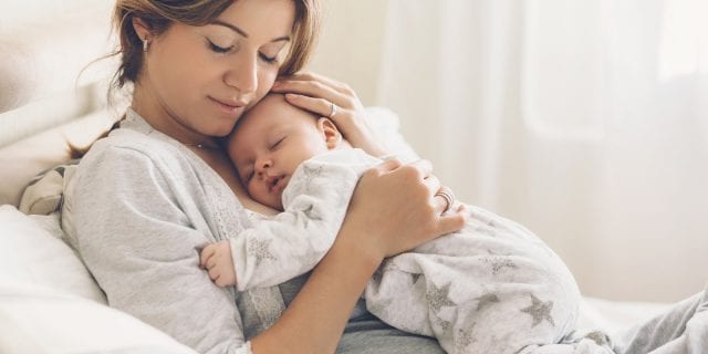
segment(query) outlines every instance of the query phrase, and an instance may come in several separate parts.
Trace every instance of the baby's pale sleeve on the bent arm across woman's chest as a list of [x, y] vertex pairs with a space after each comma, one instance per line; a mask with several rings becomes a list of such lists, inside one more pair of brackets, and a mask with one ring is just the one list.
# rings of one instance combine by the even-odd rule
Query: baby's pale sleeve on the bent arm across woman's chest
[[284, 211], [230, 238], [239, 291], [272, 287], [303, 274], [334, 243], [358, 171], [345, 164], [310, 159], [283, 191]]

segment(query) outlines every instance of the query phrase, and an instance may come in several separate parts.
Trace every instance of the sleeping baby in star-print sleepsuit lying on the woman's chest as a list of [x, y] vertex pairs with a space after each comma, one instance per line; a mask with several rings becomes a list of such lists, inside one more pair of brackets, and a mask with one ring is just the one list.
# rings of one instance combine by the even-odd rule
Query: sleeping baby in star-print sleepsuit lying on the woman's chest
[[[361, 174], [381, 160], [352, 148], [329, 118], [270, 94], [240, 118], [228, 152], [250, 196], [283, 210], [201, 266], [220, 287], [270, 287], [310, 271], [334, 242]], [[531, 353], [575, 326], [580, 291], [563, 261], [518, 223], [473, 206], [466, 227], [387, 259], [367, 309], [448, 353]]]

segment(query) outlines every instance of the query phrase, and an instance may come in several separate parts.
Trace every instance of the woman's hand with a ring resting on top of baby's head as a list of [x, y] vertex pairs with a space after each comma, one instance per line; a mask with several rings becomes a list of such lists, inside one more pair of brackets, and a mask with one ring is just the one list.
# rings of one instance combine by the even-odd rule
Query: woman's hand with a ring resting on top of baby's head
[[284, 93], [292, 105], [331, 118], [354, 147], [374, 156], [386, 155], [366, 122], [364, 106], [347, 85], [317, 74], [299, 73], [278, 79], [272, 91]]

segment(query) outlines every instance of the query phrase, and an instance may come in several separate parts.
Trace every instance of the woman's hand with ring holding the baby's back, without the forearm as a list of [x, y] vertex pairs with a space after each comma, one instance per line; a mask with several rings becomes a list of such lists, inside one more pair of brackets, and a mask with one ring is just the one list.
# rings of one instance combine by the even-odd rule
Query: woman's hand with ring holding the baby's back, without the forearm
[[342, 226], [356, 235], [358, 251], [383, 259], [465, 226], [464, 208], [440, 215], [447, 202], [435, 198], [440, 183], [431, 168], [426, 160], [389, 159], [362, 176]]

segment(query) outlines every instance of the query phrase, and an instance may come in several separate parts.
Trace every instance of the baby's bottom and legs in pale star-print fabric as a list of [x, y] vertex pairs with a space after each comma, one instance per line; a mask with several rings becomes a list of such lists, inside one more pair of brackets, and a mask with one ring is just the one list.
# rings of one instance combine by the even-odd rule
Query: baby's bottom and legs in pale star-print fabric
[[369, 311], [436, 336], [448, 353], [519, 353], [560, 342], [577, 316], [574, 279], [538, 238], [488, 221], [485, 232], [472, 220], [388, 260], [367, 288]]

